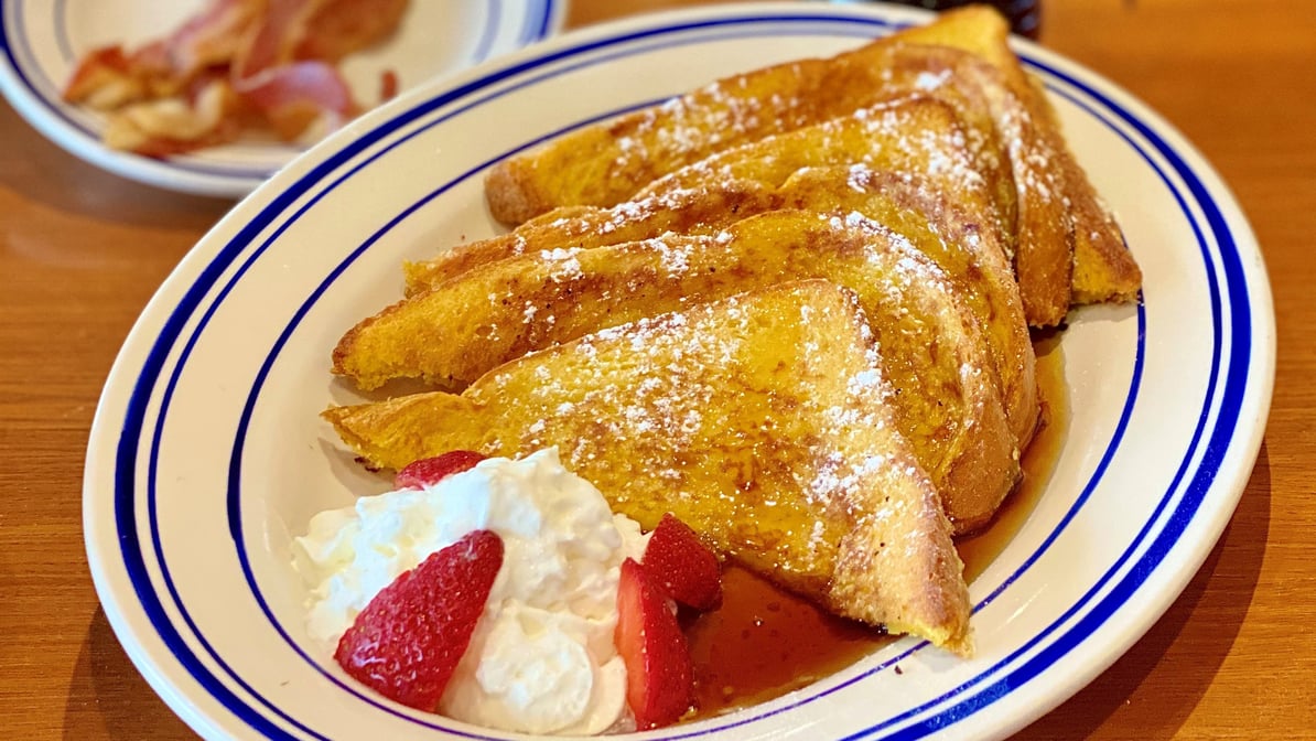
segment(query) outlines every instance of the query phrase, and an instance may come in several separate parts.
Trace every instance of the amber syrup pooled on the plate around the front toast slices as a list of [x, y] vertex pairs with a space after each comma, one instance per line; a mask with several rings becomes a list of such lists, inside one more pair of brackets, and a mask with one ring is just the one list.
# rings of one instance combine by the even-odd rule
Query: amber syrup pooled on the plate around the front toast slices
[[[1059, 333], [1034, 338], [1044, 426], [1024, 453], [1024, 479], [983, 532], [955, 542], [970, 583], [1005, 549], [1046, 487], [1069, 417]], [[845, 669], [892, 637], [834, 617], [730, 565], [722, 604], [686, 629], [695, 663], [692, 719], [754, 705]]]

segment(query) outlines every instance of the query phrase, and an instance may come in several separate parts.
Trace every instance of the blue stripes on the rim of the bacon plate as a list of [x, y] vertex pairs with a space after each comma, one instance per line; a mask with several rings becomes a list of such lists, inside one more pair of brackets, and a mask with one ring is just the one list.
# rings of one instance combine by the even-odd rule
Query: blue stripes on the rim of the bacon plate
[[[479, 64], [490, 58], [494, 39], [497, 37], [499, 25], [501, 24], [501, 5], [504, 1], [487, 0], [483, 4], [484, 28], [480, 30], [480, 39], [476, 43], [475, 54], [468, 62], [470, 64]], [[24, 22], [25, 5], [30, 5], [30, 1], [0, 0], [0, 55], [8, 59], [18, 84], [53, 118], [61, 121], [70, 132], [82, 136], [89, 142], [100, 142], [100, 132], [71, 113], [74, 111], [72, 107], [54, 103], [61, 99], [59, 91], [62, 84], [51, 80], [46, 75], [45, 68], [36, 61], [28, 34], [24, 33], [26, 28]], [[59, 45], [61, 54], [72, 64], [75, 61], [72, 59], [72, 46], [68, 41], [66, 5], [67, 0], [57, 0], [51, 5], [51, 12], [55, 25], [55, 41]], [[521, 12], [524, 12], [524, 21], [517, 37], [519, 46], [547, 38], [553, 30], [554, 20], [562, 16], [563, 7], [557, 0], [525, 0], [525, 8]], [[301, 147], [293, 145], [279, 145], [279, 147], [288, 150], [290, 157], [301, 151]], [[278, 167], [251, 167], [243, 163], [212, 162], [187, 154], [171, 157], [166, 161], [147, 161], [147, 163], [164, 170], [179, 170], [225, 179], [263, 180], [278, 170]]]

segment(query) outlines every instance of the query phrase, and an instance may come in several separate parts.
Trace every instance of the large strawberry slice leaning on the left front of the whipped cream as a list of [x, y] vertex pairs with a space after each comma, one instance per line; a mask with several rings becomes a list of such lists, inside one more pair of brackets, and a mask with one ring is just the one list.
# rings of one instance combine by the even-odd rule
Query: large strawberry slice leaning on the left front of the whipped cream
[[432, 712], [501, 566], [503, 540], [492, 530], [475, 530], [432, 553], [357, 615], [334, 661], [380, 695]]

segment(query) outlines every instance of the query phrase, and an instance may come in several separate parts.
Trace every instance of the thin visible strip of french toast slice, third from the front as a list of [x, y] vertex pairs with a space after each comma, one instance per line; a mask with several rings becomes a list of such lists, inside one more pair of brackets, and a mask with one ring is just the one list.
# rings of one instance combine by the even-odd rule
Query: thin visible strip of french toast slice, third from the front
[[908, 238], [951, 279], [986, 332], [1005, 416], [1020, 447], [1038, 420], [1036, 359], [1009, 263], [991, 229], [984, 200], [948, 200], [924, 178], [865, 166], [808, 167], [779, 187], [774, 180], [712, 178], [612, 208], [563, 207], [515, 232], [407, 263], [408, 294], [418, 294], [474, 266], [561, 247], [590, 249], [665, 233], [716, 234], [765, 211], [792, 208], [837, 216], [858, 212]]

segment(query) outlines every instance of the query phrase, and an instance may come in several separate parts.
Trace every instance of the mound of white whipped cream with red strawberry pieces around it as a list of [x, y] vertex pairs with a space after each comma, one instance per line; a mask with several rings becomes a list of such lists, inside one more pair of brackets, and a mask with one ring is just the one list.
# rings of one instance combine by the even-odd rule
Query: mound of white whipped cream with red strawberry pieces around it
[[[395, 486], [317, 515], [297, 538], [309, 632], [349, 675], [503, 730], [592, 734], [684, 715], [688, 673], [651, 677], [644, 659], [688, 666], [667, 600], [719, 599], [717, 559], [688, 528], [669, 516], [641, 536], [553, 449], [517, 461], [453, 450]], [[655, 586], [633, 599], [646, 578]], [[637, 620], [676, 645], [622, 640]]]

